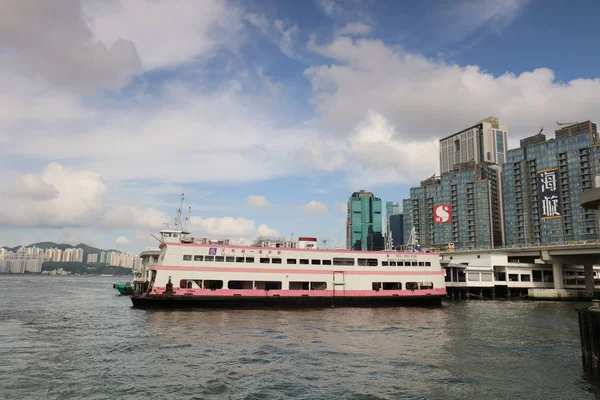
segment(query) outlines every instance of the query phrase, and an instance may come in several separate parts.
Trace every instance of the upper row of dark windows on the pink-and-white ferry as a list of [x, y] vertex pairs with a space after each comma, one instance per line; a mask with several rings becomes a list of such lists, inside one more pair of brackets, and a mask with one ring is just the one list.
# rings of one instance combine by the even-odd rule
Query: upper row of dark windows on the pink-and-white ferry
[[[200, 256], [191, 254], [185, 254], [183, 261], [216, 261], [216, 262], [245, 262], [253, 263], [254, 257], [234, 257], [234, 256]], [[258, 259], [261, 264], [282, 264], [282, 258], [268, 258], [261, 257]], [[334, 257], [333, 260], [309, 260], [307, 258], [295, 259], [287, 258], [286, 264], [303, 264], [303, 265], [342, 265], [352, 266], [355, 265], [354, 258], [340, 258]], [[358, 266], [362, 267], [376, 267], [378, 266], [378, 260], [376, 258], [359, 258]], [[384, 267], [430, 267], [431, 262], [429, 261], [382, 261], [381, 265]]]

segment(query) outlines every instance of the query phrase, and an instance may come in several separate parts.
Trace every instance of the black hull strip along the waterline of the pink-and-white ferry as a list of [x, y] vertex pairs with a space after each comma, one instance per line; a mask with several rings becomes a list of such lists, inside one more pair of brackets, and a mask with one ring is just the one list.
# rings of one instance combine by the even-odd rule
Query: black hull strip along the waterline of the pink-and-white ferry
[[442, 296], [389, 296], [389, 297], [237, 297], [237, 296], [132, 296], [134, 308], [218, 308], [218, 309], [268, 309], [268, 308], [329, 308], [329, 307], [440, 307]]

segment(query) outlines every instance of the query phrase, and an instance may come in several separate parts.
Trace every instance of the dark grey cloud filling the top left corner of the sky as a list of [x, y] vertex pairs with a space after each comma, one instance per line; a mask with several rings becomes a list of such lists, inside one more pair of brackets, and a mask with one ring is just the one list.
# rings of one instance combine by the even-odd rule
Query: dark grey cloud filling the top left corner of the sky
[[132, 42], [96, 40], [80, 1], [3, 2], [0, 46], [8, 50], [2, 54], [3, 68], [60, 86], [119, 88], [141, 71]]

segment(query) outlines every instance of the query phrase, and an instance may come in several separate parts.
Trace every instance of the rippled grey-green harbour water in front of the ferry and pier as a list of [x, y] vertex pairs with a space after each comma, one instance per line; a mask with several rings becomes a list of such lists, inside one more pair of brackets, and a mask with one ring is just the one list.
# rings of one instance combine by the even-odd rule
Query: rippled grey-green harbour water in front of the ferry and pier
[[113, 282], [0, 275], [0, 398], [595, 398], [581, 304], [147, 311]]

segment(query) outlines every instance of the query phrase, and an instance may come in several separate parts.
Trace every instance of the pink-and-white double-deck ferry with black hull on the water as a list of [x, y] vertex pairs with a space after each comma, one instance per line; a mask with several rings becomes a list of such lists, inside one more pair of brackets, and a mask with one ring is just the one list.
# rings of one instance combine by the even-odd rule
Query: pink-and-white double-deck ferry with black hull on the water
[[187, 221], [180, 208], [175, 229], [160, 232], [134, 307], [440, 305], [446, 296], [438, 253], [319, 249], [314, 237], [236, 246], [193, 238]]

